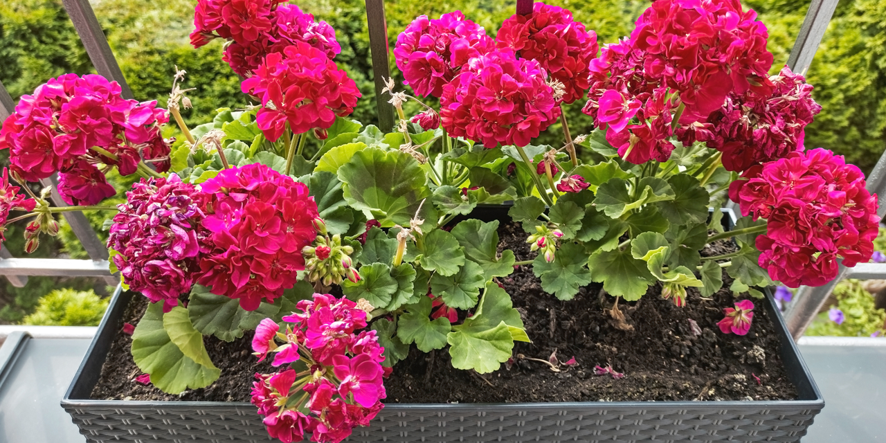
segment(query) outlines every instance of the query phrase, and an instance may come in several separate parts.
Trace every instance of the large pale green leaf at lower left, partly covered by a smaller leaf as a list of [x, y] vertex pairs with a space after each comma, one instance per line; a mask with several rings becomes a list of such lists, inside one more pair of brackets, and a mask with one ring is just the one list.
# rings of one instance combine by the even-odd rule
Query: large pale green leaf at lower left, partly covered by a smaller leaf
[[[187, 318], [187, 313], [184, 315]], [[177, 394], [186, 389], [212, 385], [221, 370], [212, 363], [208, 366], [199, 364], [183, 354], [164, 329], [164, 316], [162, 303], [148, 305], [132, 334], [132, 357], [138, 369], [151, 374], [152, 385], [167, 393]], [[180, 317], [178, 315], [176, 320]]]

